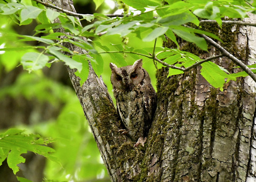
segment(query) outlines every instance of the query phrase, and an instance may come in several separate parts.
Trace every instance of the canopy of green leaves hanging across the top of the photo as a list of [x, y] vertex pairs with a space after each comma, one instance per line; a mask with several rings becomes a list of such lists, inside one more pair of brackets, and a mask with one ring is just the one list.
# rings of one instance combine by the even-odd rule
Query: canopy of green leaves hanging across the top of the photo
[[[5, 33], [4, 36], [16, 36], [19, 41], [28, 42], [36, 41], [38, 46], [24, 46], [20, 49], [33, 49], [28, 51], [21, 58], [21, 64], [29, 72], [50, 66], [53, 62], [63, 61], [70, 68], [77, 69], [77, 76], [81, 77], [81, 84], [86, 80], [89, 66], [87, 60], [90, 60], [95, 72], [100, 75], [103, 72], [103, 59], [101, 55], [109, 54], [113, 62], [118, 65], [125, 65], [125, 54], [132, 54], [134, 59], [139, 57], [148, 57], [153, 60], [163, 59], [166, 64], [175, 67], [186, 68], [201, 59], [195, 55], [185, 53], [179, 50], [177, 37], [183, 40], [193, 42], [197, 47], [207, 51], [206, 40], [198, 36], [204, 34], [215, 40], [220, 40], [218, 36], [199, 29], [184, 26], [187, 23], [193, 23], [196, 27], [200, 26], [200, 19], [209, 19], [216, 21], [222, 26], [222, 18], [244, 19], [247, 12], [254, 13], [255, 3], [247, 1], [157, 1], [157, 0], [124, 0], [123, 4], [135, 8], [137, 11], [129, 11], [126, 14], [103, 15], [95, 14], [78, 14], [86, 21], [91, 22], [89, 25], [82, 27], [79, 20], [74, 15], [68, 15], [69, 12], [57, 12], [46, 8], [39, 1], [32, 1], [31, 5], [25, 5], [20, 2], [0, 3], [0, 13], [8, 16], [19, 25], [31, 23], [34, 19], [38, 25], [34, 29], [33, 36], [26, 36], [14, 33]], [[95, 2], [97, 7], [102, 1]], [[50, 7], [52, 7], [51, 5]], [[138, 12], [139, 13], [136, 13]], [[55, 19], [59, 22], [55, 22]], [[66, 33], [52, 31], [63, 28]], [[44, 33], [45, 36], [39, 36]], [[100, 36], [111, 36], [119, 34], [123, 39], [123, 44], [102, 46]], [[149, 42], [157, 38], [169, 38], [176, 45], [177, 49], [167, 48], [143, 48], [136, 49], [127, 47], [127, 36], [134, 34], [144, 42]], [[85, 40], [83, 37], [86, 37]], [[76, 53], [63, 46], [63, 43], [69, 42], [85, 50], [85, 53]], [[146, 43], [145, 43], [146, 44]], [[17, 47], [5, 47], [1, 50], [14, 50]], [[99, 49], [103, 52], [99, 53]], [[163, 56], [165, 54], [165, 56]], [[89, 56], [90, 55], [90, 56]], [[162, 57], [161, 57], [162, 56]], [[170, 66], [169, 66], [170, 67]], [[182, 70], [174, 70], [170, 75], [181, 74]], [[238, 74], [230, 76], [227, 70], [223, 70], [218, 65], [211, 63], [202, 64], [202, 75], [207, 81], [217, 88], [222, 88], [223, 83], [228, 80], [235, 80], [236, 76], [246, 76], [247, 74]], [[212, 71], [214, 70], [214, 71]], [[214, 79], [218, 77], [219, 79]]]

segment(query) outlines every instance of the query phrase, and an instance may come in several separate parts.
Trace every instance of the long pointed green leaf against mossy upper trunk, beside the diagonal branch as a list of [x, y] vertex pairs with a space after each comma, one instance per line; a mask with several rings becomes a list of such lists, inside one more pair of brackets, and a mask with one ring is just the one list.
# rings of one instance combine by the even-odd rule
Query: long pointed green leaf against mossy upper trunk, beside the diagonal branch
[[204, 38], [202, 37], [197, 37], [195, 36], [194, 33], [190, 33], [187, 31], [183, 31], [183, 30], [172, 30], [174, 33], [177, 34], [177, 36], [179, 36], [180, 38], [189, 41], [189, 42], [193, 42], [195, 43], [199, 48], [203, 49], [203, 50], [207, 50], [208, 46], [206, 44], [206, 41]]

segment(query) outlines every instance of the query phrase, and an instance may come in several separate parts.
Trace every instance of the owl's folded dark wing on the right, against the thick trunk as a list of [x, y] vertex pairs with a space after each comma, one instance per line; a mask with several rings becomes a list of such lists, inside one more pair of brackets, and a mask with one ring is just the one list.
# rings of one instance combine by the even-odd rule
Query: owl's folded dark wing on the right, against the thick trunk
[[143, 94], [143, 106], [145, 119], [144, 135], [147, 136], [156, 109], [156, 91], [152, 85], [150, 85], [150, 89]]

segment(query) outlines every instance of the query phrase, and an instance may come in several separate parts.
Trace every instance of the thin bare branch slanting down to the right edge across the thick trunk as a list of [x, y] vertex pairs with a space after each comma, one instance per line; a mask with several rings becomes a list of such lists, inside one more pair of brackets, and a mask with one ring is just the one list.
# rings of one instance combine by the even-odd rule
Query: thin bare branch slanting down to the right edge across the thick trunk
[[212, 40], [211, 38], [205, 36], [204, 34], [200, 34], [207, 42], [209, 42], [212, 46], [220, 50], [223, 56], [228, 57], [229, 59], [233, 60], [233, 62], [240, 66], [243, 71], [245, 71], [248, 75], [252, 77], [252, 79], [256, 82], [256, 75], [247, 67], [241, 60], [237, 59], [235, 56], [231, 55], [226, 49], [221, 47], [217, 42]]

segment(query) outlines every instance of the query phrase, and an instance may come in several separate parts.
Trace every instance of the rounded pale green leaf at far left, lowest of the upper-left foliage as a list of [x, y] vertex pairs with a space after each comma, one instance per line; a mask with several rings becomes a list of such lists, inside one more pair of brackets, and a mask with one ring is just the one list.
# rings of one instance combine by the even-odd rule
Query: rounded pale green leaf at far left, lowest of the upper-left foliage
[[48, 60], [48, 56], [45, 56], [42, 53], [26, 53], [21, 58], [21, 64], [25, 70], [31, 72], [42, 69]]

